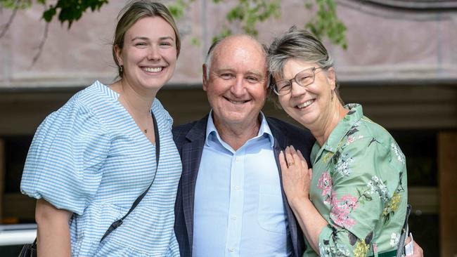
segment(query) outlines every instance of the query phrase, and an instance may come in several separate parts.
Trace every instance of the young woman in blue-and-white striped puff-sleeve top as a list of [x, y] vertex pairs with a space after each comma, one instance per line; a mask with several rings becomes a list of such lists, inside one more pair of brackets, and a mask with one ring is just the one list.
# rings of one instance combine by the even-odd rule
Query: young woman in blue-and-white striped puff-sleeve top
[[181, 162], [172, 118], [155, 98], [176, 67], [179, 32], [153, 1], [132, 1], [119, 17], [112, 54], [120, 79], [74, 95], [30, 146], [21, 190], [37, 199], [39, 256], [179, 256]]

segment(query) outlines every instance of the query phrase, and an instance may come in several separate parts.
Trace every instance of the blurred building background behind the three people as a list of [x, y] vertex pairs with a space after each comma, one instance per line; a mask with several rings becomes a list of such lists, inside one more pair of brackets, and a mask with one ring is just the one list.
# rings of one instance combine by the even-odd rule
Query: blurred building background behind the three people
[[[11, 5], [22, 1], [0, 0], [2, 225], [34, 222], [34, 199], [20, 194], [20, 178], [44, 117], [95, 80], [115, 81], [110, 42], [126, 2], [110, 0], [88, 10], [68, 29], [68, 22], [57, 17], [49, 23], [41, 18], [56, 2], [41, 1], [25, 1], [25, 8], [15, 9]], [[157, 98], [174, 124], [184, 124], [210, 111], [201, 65], [214, 37], [228, 29], [243, 32], [243, 15], [229, 22], [231, 10], [243, 1], [162, 2], [176, 11], [182, 47], [174, 77]], [[256, 1], [244, 2], [245, 8], [255, 7]], [[274, 15], [254, 26], [264, 44], [292, 25], [317, 21], [314, 29], [335, 59], [343, 100], [361, 103], [366, 116], [390, 131], [406, 155], [414, 239], [425, 256], [456, 257], [457, 1], [261, 2], [277, 6]], [[327, 12], [319, 12], [321, 7]], [[321, 32], [319, 24], [326, 21], [344, 26], [324, 26]], [[292, 122], [272, 103], [264, 113]], [[0, 256], [17, 256], [18, 246], [8, 247], [0, 246]]]

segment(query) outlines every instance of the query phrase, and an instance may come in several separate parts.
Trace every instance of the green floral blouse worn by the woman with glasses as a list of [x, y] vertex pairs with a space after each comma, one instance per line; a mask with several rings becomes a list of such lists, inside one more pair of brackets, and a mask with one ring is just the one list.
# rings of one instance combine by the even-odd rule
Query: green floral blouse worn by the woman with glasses
[[[321, 256], [395, 256], [406, 216], [404, 154], [382, 126], [348, 104], [326, 143], [311, 151], [309, 197], [328, 221]], [[304, 256], [317, 256], [307, 243]]]

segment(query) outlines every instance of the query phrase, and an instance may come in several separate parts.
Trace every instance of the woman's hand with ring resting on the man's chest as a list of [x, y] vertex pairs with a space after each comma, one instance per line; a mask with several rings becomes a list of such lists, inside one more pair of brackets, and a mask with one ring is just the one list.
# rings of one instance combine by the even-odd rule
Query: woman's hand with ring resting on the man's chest
[[279, 154], [279, 164], [285, 195], [291, 206], [309, 199], [309, 183], [312, 170], [308, 169], [307, 161], [300, 150], [291, 145]]

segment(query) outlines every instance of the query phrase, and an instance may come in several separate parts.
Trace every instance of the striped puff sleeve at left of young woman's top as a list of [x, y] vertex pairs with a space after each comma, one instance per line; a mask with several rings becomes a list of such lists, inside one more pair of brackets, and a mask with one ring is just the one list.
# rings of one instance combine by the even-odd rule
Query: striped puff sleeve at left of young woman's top
[[70, 100], [41, 123], [27, 154], [20, 190], [82, 215], [101, 183], [110, 147], [91, 110]]

